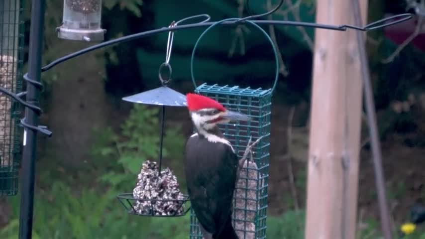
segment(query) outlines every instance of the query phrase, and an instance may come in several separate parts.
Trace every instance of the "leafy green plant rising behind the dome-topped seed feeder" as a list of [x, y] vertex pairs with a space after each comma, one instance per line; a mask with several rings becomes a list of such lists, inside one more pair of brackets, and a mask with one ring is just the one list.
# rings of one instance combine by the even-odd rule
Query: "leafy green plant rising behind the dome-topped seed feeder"
[[[120, 133], [111, 128], [98, 131], [99, 142], [93, 148], [93, 156], [110, 168], [100, 178], [121, 190], [131, 190], [144, 161], [159, 157], [160, 125], [158, 108], [134, 105], [128, 119], [121, 125]], [[172, 155], [180, 161], [185, 139], [180, 127], [165, 127], [163, 157]]]

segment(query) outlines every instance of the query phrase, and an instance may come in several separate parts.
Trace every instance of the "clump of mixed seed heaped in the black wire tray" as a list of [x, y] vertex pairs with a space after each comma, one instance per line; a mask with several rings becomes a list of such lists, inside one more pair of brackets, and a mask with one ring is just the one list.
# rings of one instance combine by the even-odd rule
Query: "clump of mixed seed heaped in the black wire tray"
[[146, 161], [143, 163], [142, 169], [137, 175], [133, 197], [136, 199], [133, 208], [137, 214], [173, 216], [184, 212], [185, 196], [179, 190], [177, 177], [169, 168], [161, 171], [161, 175], [158, 177], [156, 162]]

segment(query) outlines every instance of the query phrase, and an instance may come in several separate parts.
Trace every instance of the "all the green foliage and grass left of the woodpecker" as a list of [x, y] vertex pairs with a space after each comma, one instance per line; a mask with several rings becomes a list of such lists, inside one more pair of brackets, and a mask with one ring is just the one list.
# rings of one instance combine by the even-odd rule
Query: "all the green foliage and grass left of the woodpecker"
[[[40, 185], [49, 185], [36, 192], [34, 207], [34, 239], [183, 239], [189, 235], [189, 215], [175, 219], [150, 219], [128, 215], [115, 198], [132, 190], [136, 175], [146, 159], [156, 160], [159, 149], [158, 109], [134, 105], [118, 133], [111, 128], [97, 130], [93, 145], [96, 172], [80, 188], [52, 180], [50, 174], [40, 177]], [[181, 158], [184, 138], [179, 127], [166, 127], [164, 155], [176, 153]], [[53, 165], [52, 165], [53, 166]], [[96, 167], [95, 167], [96, 166]], [[45, 169], [46, 171], [53, 171]], [[102, 175], [96, 178], [96, 175]], [[67, 180], [65, 180], [67, 178]], [[74, 177], [75, 178], [75, 177]], [[99, 181], [93, 185], [92, 181]], [[47, 182], [44, 182], [47, 181]], [[53, 182], [53, 183], [52, 183]], [[19, 198], [10, 198], [13, 208], [10, 223], [0, 231], [1, 239], [16, 239], [18, 233]]]

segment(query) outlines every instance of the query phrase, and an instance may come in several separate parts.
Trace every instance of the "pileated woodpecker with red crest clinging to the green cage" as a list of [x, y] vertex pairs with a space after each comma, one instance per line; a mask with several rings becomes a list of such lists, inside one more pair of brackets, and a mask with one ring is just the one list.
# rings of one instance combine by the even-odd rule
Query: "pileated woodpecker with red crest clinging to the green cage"
[[205, 239], [238, 239], [231, 223], [238, 158], [217, 124], [250, 118], [205, 96], [189, 93], [186, 97], [197, 129], [186, 143], [185, 155], [192, 209]]

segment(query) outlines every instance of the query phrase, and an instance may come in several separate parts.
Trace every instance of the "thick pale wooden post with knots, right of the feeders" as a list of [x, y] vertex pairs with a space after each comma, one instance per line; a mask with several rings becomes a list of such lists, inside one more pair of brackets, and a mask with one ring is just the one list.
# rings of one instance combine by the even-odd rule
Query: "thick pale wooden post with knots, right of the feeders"
[[[367, 0], [361, 0], [366, 22]], [[354, 24], [350, 0], [317, 1], [316, 22]], [[355, 239], [362, 79], [354, 30], [316, 29], [306, 239]]]

